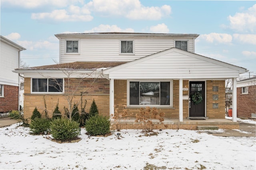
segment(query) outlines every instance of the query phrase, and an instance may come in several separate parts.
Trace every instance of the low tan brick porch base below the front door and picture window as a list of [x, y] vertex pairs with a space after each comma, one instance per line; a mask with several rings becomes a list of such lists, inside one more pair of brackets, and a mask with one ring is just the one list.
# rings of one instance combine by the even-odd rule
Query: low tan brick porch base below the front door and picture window
[[[198, 130], [198, 126], [216, 126], [219, 129], [239, 129], [239, 122], [233, 122], [228, 119], [179, 119], [164, 118], [163, 124], [158, 120], [151, 120], [156, 129], [188, 129]], [[115, 129], [114, 121], [111, 121], [112, 129]], [[121, 129], [141, 129], [140, 122], [135, 122], [135, 118], [122, 119], [119, 122]]]

